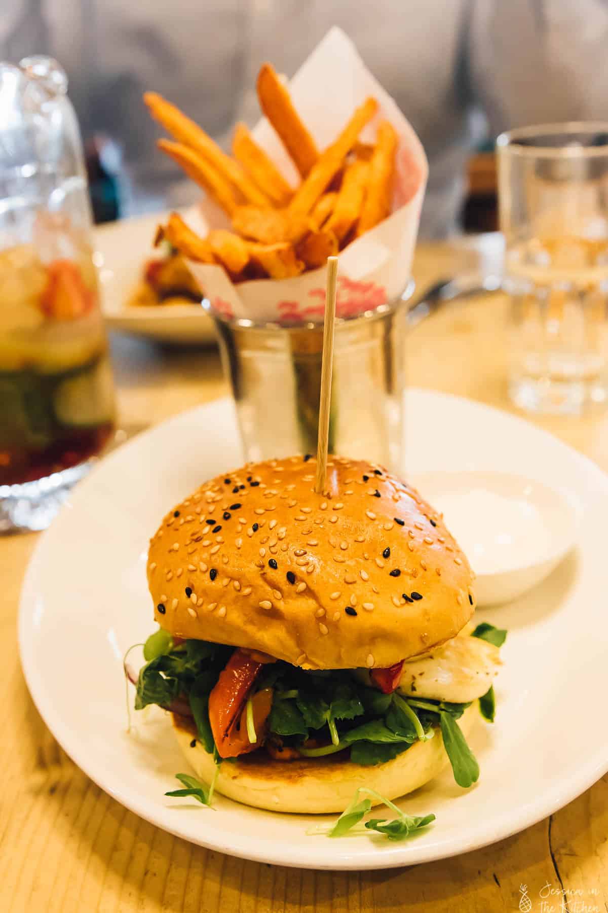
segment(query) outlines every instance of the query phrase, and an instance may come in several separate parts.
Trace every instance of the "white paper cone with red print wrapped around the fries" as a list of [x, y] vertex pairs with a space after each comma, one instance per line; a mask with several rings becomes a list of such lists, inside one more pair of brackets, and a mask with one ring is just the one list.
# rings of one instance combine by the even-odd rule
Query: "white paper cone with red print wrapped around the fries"
[[[369, 95], [378, 101], [378, 111], [360, 139], [373, 142], [377, 124], [383, 120], [390, 121], [399, 136], [392, 214], [339, 254], [336, 315], [356, 317], [396, 299], [407, 287], [427, 184], [427, 158], [395, 100], [366, 69], [356, 47], [339, 28], [327, 33], [295, 74], [289, 89], [295, 108], [320, 149], [335, 140], [356, 107]], [[294, 164], [269, 122], [263, 118], [252, 132], [295, 185]], [[207, 199], [186, 219], [200, 234], [211, 227], [225, 226], [225, 219], [220, 223], [217, 207]], [[323, 322], [325, 267], [294, 278], [254, 279], [234, 285], [222, 267], [192, 261], [188, 265], [211, 301], [211, 308], [224, 319]]]

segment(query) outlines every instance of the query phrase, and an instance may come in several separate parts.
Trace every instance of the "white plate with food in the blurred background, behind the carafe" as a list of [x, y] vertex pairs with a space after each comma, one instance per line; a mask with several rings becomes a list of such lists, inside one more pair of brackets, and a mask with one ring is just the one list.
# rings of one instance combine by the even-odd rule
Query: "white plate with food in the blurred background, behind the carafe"
[[127, 304], [144, 261], [154, 253], [152, 238], [162, 218], [156, 213], [95, 229], [102, 307], [108, 327], [180, 345], [214, 342], [213, 322], [196, 304], [149, 308]]

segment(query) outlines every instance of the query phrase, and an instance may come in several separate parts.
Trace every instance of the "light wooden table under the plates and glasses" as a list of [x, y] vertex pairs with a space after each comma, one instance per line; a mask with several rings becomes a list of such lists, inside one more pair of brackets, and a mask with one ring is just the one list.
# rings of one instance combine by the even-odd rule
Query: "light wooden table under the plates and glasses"
[[[474, 251], [422, 245], [421, 286], [474, 260]], [[454, 304], [412, 332], [409, 381], [509, 409], [507, 301], [479, 296]], [[125, 425], [158, 422], [226, 393], [213, 351], [166, 351], [144, 341], [113, 341]], [[541, 425], [608, 469], [608, 415]], [[499, 844], [454, 859], [371, 873], [263, 866], [208, 852], [141, 821], [98, 789], [59, 749], [26, 689], [15, 619], [35, 535], [0, 540], [0, 910], [9, 913], [116, 911], [479, 911], [517, 910], [520, 884], [532, 910], [608, 911], [608, 776], [561, 812]], [[598, 593], [598, 598], [605, 594]], [[69, 632], [66, 632], [69, 635]], [[598, 725], [605, 722], [602, 695]], [[74, 699], [86, 700], [75, 682]], [[580, 738], [575, 720], [564, 738]], [[559, 745], [555, 746], [559, 751]], [[525, 776], [525, 759], [513, 758]], [[581, 892], [570, 906], [544, 897], [550, 885]], [[586, 905], [586, 906], [583, 906]]]

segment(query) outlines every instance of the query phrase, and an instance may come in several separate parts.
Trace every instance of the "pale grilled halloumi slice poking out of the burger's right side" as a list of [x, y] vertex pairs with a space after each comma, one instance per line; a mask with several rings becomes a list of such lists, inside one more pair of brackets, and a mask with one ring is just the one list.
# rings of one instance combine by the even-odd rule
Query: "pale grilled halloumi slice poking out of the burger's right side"
[[501, 665], [498, 646], [479, 637], [453, 637], [424, 656], [406, 660], [397, 691], [464, 704], [486, 693]]

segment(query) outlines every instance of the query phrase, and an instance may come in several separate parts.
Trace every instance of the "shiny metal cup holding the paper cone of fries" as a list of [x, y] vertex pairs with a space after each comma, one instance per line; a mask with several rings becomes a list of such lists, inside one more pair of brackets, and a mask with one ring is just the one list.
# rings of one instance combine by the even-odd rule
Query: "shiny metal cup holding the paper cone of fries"
[[[407, 301], [336, 320], [329, 451], [398, 469]], [[213, 314], [248, 460], [316, 452], [323, 326]]]

